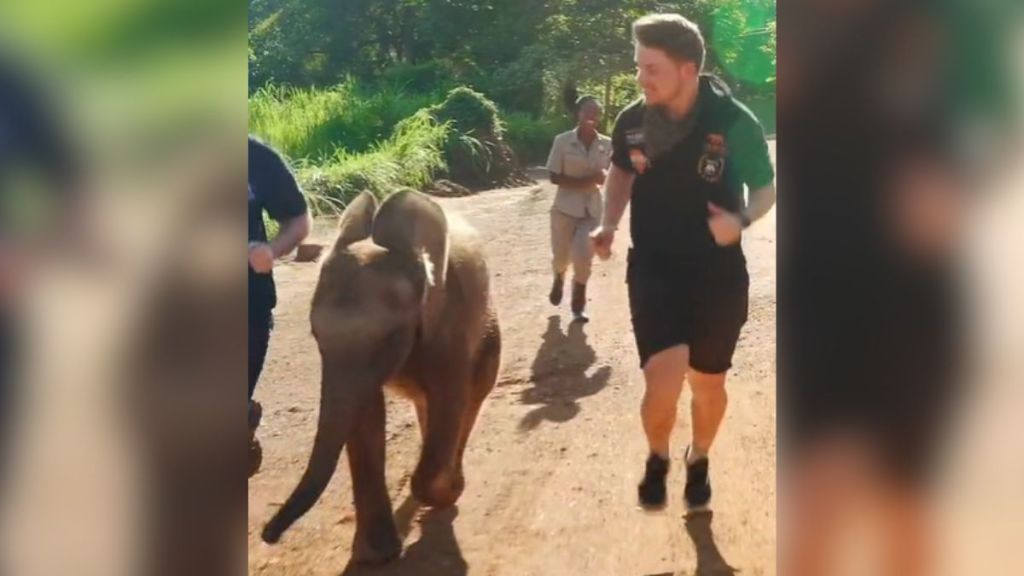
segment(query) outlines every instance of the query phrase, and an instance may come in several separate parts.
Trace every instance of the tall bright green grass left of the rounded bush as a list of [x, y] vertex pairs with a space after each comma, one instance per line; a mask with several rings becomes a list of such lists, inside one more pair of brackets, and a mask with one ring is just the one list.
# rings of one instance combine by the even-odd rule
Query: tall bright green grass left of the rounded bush
[[426, 109], [440, 96], [331, 88], [265, 87], [249, 98], [249, 129], [283, 153], [314, 213], [344, 208], [364, 191], [382, 197], [424, 188], [443, 171], [447, 124]]

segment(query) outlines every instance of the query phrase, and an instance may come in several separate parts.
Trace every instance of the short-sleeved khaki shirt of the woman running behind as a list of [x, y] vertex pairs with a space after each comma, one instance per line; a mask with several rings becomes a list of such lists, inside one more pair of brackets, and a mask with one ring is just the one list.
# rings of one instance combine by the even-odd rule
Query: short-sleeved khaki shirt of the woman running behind
[[[573, 178], [585, 178], [611, 164], [611, 138], [598, 133], [590, 150], [580, 141], [575, 129], [555, 136], [548, 156], [548, 171]], [[574, 218], [601, 218], [601, 191], [597, 184], [586, 188], [558, 187], [552, 210]]]

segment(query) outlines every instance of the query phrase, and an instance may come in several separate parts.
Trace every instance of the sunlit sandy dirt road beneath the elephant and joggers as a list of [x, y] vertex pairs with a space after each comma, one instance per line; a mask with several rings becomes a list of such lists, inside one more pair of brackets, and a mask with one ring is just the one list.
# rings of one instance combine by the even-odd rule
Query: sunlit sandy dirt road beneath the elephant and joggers
[[[249, 573], [462, 576], [748, 576], [775, 574], [774, 211], [744, 235], [751, 312], [728, 383], [729, 410], [713, 451], [714, 513], [684, 519], [689, 438], [684, 394], [673, 446], [670, 506], [646, 513], [636, 483], [646, 456], [626, 298], [628, 235], [595, 266], [587, 325], [547, 302], [553, 188], [441, 200], [486, 240], [505, 338], [498, 386], [466, 453], [455, 509], [417, 509], [409, 479], [419, 450], [412, 406], [388, 405], [388, 484], [406, 534], [400, 561], [345, 570], [354, 530], [347, 464], [319, 503], [275, 546], [259, 532], [301, 476], [312, 445], [319, 358], [309, 335], [312, 264], [276, 278], [276, 329], [257, 399], [264, 407], [262, 471], [249, 482]], [[333, 223], [316, 235], [330, 243]], [[566, 298], [567, 299], [567, 298]]]

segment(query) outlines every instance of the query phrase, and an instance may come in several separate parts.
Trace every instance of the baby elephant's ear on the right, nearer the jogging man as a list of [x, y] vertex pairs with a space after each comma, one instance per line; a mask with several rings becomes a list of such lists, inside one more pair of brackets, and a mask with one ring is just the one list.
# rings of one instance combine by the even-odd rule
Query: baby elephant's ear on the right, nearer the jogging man
[[373, 239], [378, 246], [414, 257], [429, 259], [425, 291], [424, 332], [430, 334], [437, 324], [439, 296], [447, 279], [449, 234], [444, 211], [434, 201], [413, 190], [389, 196], [374, 221]]

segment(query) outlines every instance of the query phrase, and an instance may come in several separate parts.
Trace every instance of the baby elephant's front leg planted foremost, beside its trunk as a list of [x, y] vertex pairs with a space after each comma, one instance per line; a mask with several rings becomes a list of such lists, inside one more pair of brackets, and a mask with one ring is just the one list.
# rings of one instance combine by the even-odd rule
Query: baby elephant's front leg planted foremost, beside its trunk
[[376, 390], [358, 415], [348, 442], [348, 466], [355, 500], [352, 559], [379, 564], [401, 554], [384, 476], [384, 392]]

